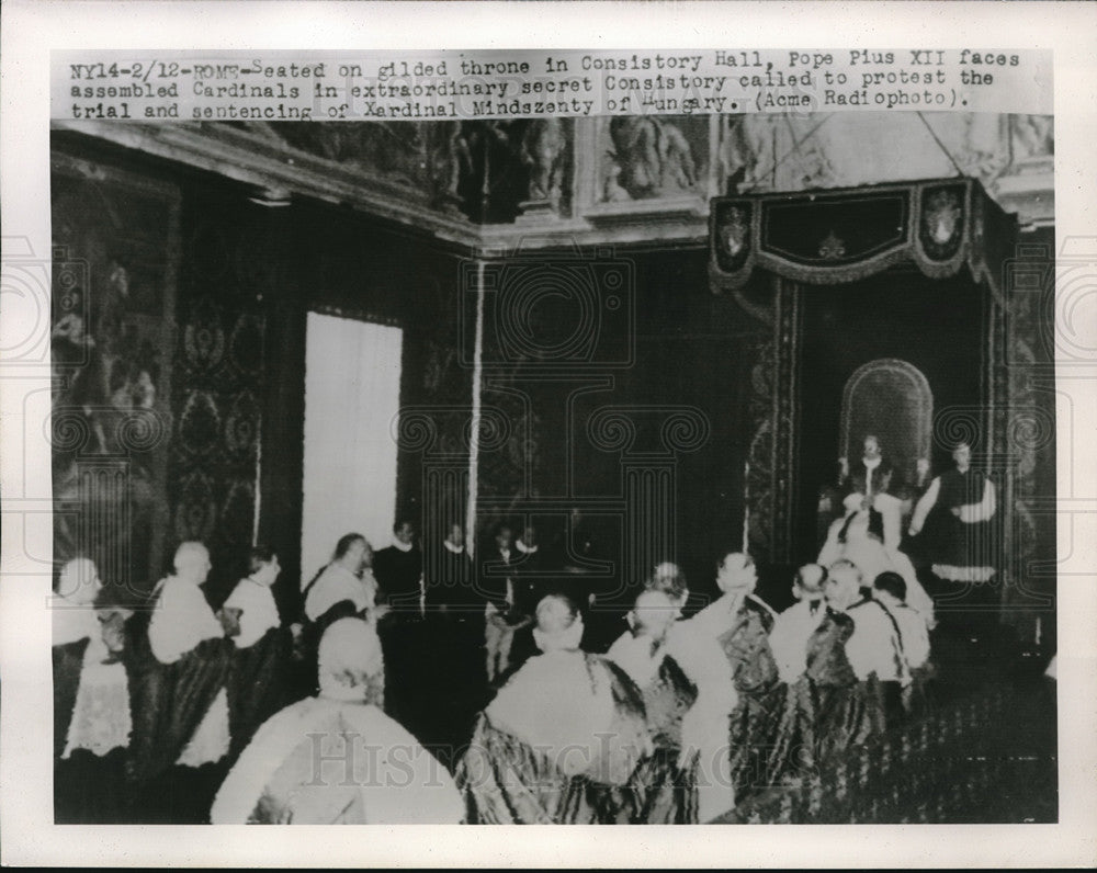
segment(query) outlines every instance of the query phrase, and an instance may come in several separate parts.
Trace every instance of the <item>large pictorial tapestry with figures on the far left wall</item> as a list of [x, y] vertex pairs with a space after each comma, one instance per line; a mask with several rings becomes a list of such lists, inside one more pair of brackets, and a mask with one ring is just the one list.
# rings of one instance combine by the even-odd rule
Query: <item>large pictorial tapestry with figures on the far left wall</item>
[[52, 184], [54, 557], [132, 592], [163, 548], [179, 192], [61, 154]]

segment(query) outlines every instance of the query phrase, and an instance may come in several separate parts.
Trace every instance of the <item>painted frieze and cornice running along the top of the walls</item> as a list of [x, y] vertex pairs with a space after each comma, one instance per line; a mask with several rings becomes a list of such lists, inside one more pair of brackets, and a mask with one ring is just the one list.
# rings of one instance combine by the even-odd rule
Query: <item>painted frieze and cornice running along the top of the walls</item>
[[[710, 199], [730, 181], [758, 193], [891, 183], [898, 181], [891, 178], [898, 147], [928, 136], [911, 118], [881, 113], [632, 122], [371, 122], [366, 132], [338, 123], [58, 121], [54, 129], [257, 191], [349, 206], [474, 250], [703, 246]], [[1054, 222], [1050, 116], [932, 124], [1021, 225]], [[863, 154], [855, 155], [852, 143]], [[921, 163], [946, 159], [928, 147], [916, 155]], [[866, 173], [873, 178], [860, 178]]]

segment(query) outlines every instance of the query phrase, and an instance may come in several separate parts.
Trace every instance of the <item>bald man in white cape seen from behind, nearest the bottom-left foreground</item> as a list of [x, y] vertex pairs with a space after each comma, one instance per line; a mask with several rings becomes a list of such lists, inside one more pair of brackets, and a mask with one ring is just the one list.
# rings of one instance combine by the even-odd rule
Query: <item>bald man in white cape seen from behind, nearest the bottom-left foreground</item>
[[[340, 619], [319, 647], [319, 694], [271, 717], [225, 779], [215, 825], [453, 825], [463, 807], [445, 768], [366, 702], [377, 636]], [[317, 762], [319, 769], [317, 769]]]

